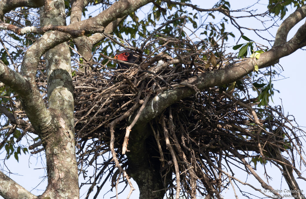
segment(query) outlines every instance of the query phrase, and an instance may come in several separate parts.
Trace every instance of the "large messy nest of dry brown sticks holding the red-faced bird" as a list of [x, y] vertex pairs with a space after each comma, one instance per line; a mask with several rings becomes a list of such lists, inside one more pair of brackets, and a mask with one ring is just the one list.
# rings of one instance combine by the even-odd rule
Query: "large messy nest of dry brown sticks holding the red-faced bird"
[[[139, 107], [146, 98], [150, 101], [162, 91], [182, 86], [180, 82], [184, 79], [201, 72], [230, 67], [235, 61], [230, 55], [220, 56], [216, 59], [218, 65], [214, 66], [212, 58], [209, 58], [211, 56], [214, 55], [209, 50], [180, 53], [174, 58], [155, 55], [143, 57], [144, 62], [128, 70], [94, 70], [87, 76], [75, 78], [79, 163], [86, 168], [112, 150], [109, 147], [112, 142], [109, 128], [112, 126], [115, 135], [114, 154], [118, 163], [125, 168], [127, 159], [121, 154], [125, 127], [132, 122], [131, 118]], [[159, 58], [166, 58], [164, 66], [152, 70]], [[148, 62], [150, 66], [146, 64]], [[209, 68], [205, 68], [207, 63]], [[196, 94], [168, 107], [149, 123], [154, 135], [146, 140], [151, 147], [149, 156], [156, 157], [165, 182], [172, 174], [180, 176], [181, 193], [186, 197], [192, 197], [197, 190], [203, 196], [221, 198], [220, 192], [233, 186], [231, 181], [253, 187], [234, 178], [229, 165], [237, 165], [250, 174], [255, 172], [253, 166], [256, 167], [257, 162], [271, 161], [279, 165], [281, 171], [284, 165], [293, 168], [301, 177], [300, 171], [293, 166], [293, 151], [298, 151], [297, 156], [305, 164], [299, 140], [300, 133], [304, 134], [304, 131], [294, 126], [294, 120], [285, 116], [280, 106], [258, 107], [257, 99], [251, 98], [247, 92], [254, 88], [249, 77], [241, 79], [241, 83], [242, 87], [230, 84], [198, 90]], [[91, 138], [92, 143], [86, 146], [86, 141]], [[99, 170], [114, 171], [109, 166], [118, 166], [111, 162], [113, 158], [114, 155], [108, 160], [103, 156], [106, 163], [95, 165], [95, 183], [100, 182], [103, 176]], [[292, 161], [289, 162], [288, 158]], [[281, 164], [286, 161], [287, 164]], [[175, 165], [179, 165], [179, 171]], [[122, 172], [123, 169], [112, 175], [113, 186], [117, 185]], [[269, 177], [266, 172], [265, 175]], [[168, 194], [174, 195], [178, 191], [176, 185], [174, 180], [165, 183], [165, 188], [170, 190]], [[267, 184], [263, 183], [262, 186]], [[92, 190], [93, 186], [88, 193]], [[265, 193], [263, 195], [267, 196]]]

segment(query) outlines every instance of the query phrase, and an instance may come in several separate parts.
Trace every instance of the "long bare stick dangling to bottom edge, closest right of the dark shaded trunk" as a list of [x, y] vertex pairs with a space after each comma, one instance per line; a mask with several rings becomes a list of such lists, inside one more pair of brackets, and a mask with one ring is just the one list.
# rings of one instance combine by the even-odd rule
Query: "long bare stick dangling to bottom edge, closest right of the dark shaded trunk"
[[181, 190], [180, 171], [179, 171], [179, 168], [178, 168], [177, 159], [176, 159], [174, 150], [173, 150], [173, 148], [172, 148], [172, 146], [170, 144], [168, 130], [167, 130], [167, 127], [166, 127], [166, 122], [165, 122], [164, 116], [161, 117], [161, 123], [162, 123], [162, 127], [164, 129], [166, 146], [167, 146], [168, 150], [171, 153], [171, 156], [172, 156], [172, 159], [173, 159], [174, 168], [175, 168], [175, 175], [176, 175], [176, 196], [175, 196], [175, 198], [179, 199], [180, 198], [180, 190]]

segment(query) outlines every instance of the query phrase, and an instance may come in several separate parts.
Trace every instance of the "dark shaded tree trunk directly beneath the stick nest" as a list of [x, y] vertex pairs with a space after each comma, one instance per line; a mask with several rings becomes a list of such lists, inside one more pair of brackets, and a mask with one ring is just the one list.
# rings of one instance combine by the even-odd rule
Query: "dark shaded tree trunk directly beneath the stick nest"
[[[146, 133], [140, 133], [145, 131]], [[161, 199], [165, 195], [160, 176], [160, 161], [151, 157], [147, 138], [153, 135], [147, 127], [134, 127], [130, 134], [128, 152], [128, 174], [136, 181], [141, 199]]]

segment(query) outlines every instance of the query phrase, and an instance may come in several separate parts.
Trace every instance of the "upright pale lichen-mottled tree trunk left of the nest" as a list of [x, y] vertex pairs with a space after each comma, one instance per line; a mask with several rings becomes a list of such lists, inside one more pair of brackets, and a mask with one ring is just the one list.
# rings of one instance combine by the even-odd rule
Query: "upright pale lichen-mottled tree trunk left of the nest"
[[[46, 1], [40, 9], [41, 26], [66, 25], [64, 1]], [[53, 128], [42, 137], [46, 152], [48, 186], [43, 197], [78, 198], [79, 185], [74, 144], [73, 85], [67, 42], [45, 54], [48, 102]], [[63, 194], [64, 193], [64, 194]]]

